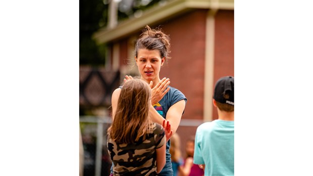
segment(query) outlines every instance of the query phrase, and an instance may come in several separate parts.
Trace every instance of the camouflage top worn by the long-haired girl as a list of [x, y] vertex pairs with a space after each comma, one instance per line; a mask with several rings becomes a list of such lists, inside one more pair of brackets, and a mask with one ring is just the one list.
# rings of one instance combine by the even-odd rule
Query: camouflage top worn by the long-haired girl
[[108, 151], [114, 163], [113, 175], [156, 175], [156, 153], [166, 144], [164, 128], [152, 123], [151, 130], [134, 144], [116, 144], [108, 135]]

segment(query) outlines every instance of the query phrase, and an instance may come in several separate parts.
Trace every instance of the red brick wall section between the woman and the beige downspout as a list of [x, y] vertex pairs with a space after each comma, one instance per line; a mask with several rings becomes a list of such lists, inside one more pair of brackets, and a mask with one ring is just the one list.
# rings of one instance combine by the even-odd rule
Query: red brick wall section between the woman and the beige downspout
[[189, 12], [162, 24], [170, 35], [171, 49], [168, 65], [160, 77], [169, 77], [171, 86], [187, 97], [182, 118], [202, 119], [206, 10]]

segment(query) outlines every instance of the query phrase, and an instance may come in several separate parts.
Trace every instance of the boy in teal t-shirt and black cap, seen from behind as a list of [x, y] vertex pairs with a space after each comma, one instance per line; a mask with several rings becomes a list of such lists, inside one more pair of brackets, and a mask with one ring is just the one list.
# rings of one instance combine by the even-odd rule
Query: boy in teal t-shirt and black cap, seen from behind
[[218, 119], [197, 127], [193, 163], [204, 175], [234, 175], [234, 77], [221, 77], [214, 89]]

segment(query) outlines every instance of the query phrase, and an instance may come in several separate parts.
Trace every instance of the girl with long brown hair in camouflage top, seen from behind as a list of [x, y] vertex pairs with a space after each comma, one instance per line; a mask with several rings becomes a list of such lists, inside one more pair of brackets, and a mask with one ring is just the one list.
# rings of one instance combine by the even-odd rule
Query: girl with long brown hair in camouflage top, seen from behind
[[150, 94], [150, 87], [140, 79], [127, 81], [123, 86], [108, 129], [113, 175], [156, 175], [165, 165], [165, 134], [171, 131], [169, 123], [163, 123], [163, 128], [151, 122]]

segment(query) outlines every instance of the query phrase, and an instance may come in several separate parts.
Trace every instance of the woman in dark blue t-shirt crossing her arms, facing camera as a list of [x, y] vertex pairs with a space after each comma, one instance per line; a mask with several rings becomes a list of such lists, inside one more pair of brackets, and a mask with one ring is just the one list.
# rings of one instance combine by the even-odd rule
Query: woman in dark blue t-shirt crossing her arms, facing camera
[[[186, 97], [179, 90], [169, 86], [170, 79], [160, 79], [161, 66], [170, 58], [170, 38], [161, 30], [151, 29], [149, 26], [140, 35], [135, 45], [135, 60], [140, 72], [140, 79], [151, 87], [151, 106], [149, 114], [153, 122], [162, 124], [164, 119], [169, 121], [173, 134], [176, 132], [187, 102]], [[124, 82], [131, 80], [126, 76]], [[118, 106], [121, 89], [112, 94], [112, 118]], [[158, 175], [173, 175], [171, 164], [170, 140], [166, 144], [166, 164]]]

